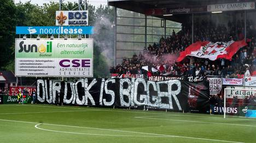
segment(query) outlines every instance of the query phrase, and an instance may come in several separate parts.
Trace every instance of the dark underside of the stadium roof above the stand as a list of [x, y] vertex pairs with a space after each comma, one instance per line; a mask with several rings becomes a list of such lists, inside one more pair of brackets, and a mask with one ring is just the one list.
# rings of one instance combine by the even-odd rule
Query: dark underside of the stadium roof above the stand
[[[161, 8], [184, 8], [184, 7], [202, 7], [206, 8], [210, 4], [224, 4], [224, 3], [242, 3], [242, 2], [255, 2], [253, 0], [108, 0], [108, 4], [120, 9], [135, 11], [136, 13], [146, 14], [147, 9], [161, 9]], [[189, 15], [180, 14], [173, 16], [155, 15], [159, 18], [165, 18], [167, 20], [182, 22], [184, 18]]]

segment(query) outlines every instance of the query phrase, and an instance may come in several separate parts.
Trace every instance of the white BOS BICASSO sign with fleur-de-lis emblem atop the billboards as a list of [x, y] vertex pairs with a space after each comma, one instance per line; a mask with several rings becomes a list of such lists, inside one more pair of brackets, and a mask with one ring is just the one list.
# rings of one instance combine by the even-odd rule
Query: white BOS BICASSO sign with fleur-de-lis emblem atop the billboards
[[88, 10], [56, 11], [56, 26], [88, 26]]

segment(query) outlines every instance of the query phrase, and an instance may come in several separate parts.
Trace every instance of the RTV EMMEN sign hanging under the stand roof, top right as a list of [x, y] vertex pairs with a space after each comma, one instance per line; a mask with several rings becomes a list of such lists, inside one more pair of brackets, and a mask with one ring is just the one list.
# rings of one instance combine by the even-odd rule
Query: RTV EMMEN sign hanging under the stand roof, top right
[[212, 4], [207, 5], [207, 11], [229, 11], [229, 10], [246, 10], [254, 9], [254, 2], [246, 3], [225, 3], [225, 4]]

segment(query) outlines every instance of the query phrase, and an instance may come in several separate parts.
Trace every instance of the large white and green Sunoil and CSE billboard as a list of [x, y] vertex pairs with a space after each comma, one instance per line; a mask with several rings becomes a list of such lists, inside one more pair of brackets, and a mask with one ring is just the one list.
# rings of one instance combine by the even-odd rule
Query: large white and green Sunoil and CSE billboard
[[93, 77], [93, 39], [16, 39], [15, 76]]

